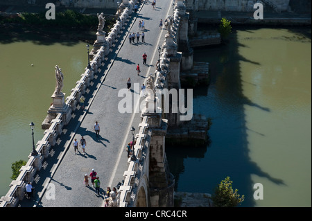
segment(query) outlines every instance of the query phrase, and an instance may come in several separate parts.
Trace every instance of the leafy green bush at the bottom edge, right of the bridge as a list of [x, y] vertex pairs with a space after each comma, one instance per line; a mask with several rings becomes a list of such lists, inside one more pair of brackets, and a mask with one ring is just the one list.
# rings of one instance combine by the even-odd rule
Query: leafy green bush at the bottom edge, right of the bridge
[[216, 186], [211, 197], [215, 207], [235, 207], [244, 201], [245, 196], [240, 196], [237, 189], [233, 191], [232, 183], [229, 177], [226, 177]]

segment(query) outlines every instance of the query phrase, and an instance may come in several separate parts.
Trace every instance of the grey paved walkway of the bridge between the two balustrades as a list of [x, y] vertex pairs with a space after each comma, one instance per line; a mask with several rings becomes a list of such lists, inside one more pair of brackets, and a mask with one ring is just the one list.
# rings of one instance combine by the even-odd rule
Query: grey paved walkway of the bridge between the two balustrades
[[[159, 28], [159, 21], [171, 15], [171, 10], [171, 1], [157, 1], [155, 10], [148, 2], [141, 4], [137, 15], [132, 13], [123, 33], [116, 39], [113, 51], [101, 67], [101, 73], [87, 89], [87, 108], [85, 111], [79, 108], [72, 113], [69, 125], [64, 127], [57, 144], [51, 148], [50, 156], [37, 173], [33, 182], [37, 196], [34, 200], [25, 198], [19, 206], [102, 206], [106, 187], [112, 188], [121, 182], [123, 172], [128, 168], [125, 145], [132, 140], [130, 127], [133, 125], [137, 132], [141, 118], [139, 114], [119, 113], [118, 103], [122, 98], [118, 97], [118, 92], [127, 88], [126, 82], [130, 77], [133, 95], [133, 84], [137, 82], [141, 85], [148, 73], [154, 73], [158, 59], [157, 47], [163, 44], [166, 34], [164, 28]], [[128, 32], [137, 33], [142, 19], [145, 21], [146, 43], [129, 44]], [[144, 52], [148, 55], [148, 65], [143, 64]], [[135, 70], [137, 64], [141, 67], [140, 76]], [[93, 130], [95, 121], [101, 127], [98, 138]], [[80, 141], [81, 136], [87, 141], [85, 155], [81, 148], [78, 154], [73, 151], [73, 139]], [[101, 180], [101, 195], [98, 197], [91, 182], [89, 187], [85, 187], [83, 182], [85, 173], [89, 175], [92, 168]], [[50, 191], [44, 188], [47, 184], [55, 186], [55, 200], [49, 200]]]

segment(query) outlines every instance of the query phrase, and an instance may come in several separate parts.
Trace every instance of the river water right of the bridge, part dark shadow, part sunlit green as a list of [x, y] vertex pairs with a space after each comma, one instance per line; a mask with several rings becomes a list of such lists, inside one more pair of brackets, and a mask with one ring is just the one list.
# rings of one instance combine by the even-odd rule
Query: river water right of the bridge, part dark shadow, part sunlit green
[[193, 112], [212, 118], [211, 143], [166, 146], [176, 191], [213, 193], [229, 176], [241, 206], [311, 206], [311, 30], [235, 30], [194, 60], [210, 65]]

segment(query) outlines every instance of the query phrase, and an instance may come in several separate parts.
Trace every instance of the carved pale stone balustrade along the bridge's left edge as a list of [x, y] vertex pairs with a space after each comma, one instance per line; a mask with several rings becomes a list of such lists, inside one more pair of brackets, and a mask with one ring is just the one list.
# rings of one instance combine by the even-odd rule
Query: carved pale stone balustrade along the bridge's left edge
[[[132, 13], [132, 4], [137, 3], [137, 0], [129, 1], [129, 7], [125, 8], [121, 13], [121, 21], [116, 21], [114, 28], [108, 33], [106, 37], [107, 42], [114, 42], [117, 35], [125, 25], [126, 19]], [[80, 97], [85, 94], [85, 89], [89, 87], [90, 82], [94, 79], [94, 74], [98, 73], [98, 68], [101, 67], [102, 62], [105, 60], [105, 55], [110, 52], [110, 44], [101, 46], [96, 55], [90, 61], [91, 69], [85, 69], [85, 72], [81, 75], [80, 80], [76, 82], [76, 87], [71, 89], [71, 94], [67, 96], [65, 104], [69, 106], [71, 112], [73, 112], [80, 100]], [[25, 189], [27, 182], [33, 182], [35, 174], [42, 168], [42, 161], [49, 157], [49, 150], [53, 147], [58, 139], [58, 136], [62, 134], [62, 127], [69, 122], [66, 122], [62, 113], [58, 114], [52, 121], [48, 130], [44, 131], [42, 140], [37, 141], [37, 156], [29, 154], [28, 161], [25, 166], [22, 166], [19, 170], [19, 176], [13, 180], [10, 184], [10, 189], [5, 196], [0, 199], [0, 207], [15, 207], [19, 200], [24, 199]], [[145, 128], [145, 127], [144, 127]], [[145, 129], [144, 129], [145, 130]], [[136, 152], [141, 155], [142, 150], [136, 149]]]

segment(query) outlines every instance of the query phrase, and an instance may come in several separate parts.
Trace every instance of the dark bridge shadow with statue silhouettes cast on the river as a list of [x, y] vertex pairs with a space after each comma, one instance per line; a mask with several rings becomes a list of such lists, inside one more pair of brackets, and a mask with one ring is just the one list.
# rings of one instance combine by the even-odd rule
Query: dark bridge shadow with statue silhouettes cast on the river
[[209, 86], [193, 89], [193, 113], [211, 118], [210, 142], [200, 148], [166, 145], [166, 154], [175, 176], [175, 191], [212, 194], [216, 185], [229, 176], [233, 188], [245, 195], [241, 206], [253, 207], [256, 204], [252, 175], [264, 177], [274, 184], [285, 184], [263, 171], [249, 156], [248, 133], [266, 134], [248, 128], [245, 107], [249, 105], [263, 112], [271, 110], [243, 94], [241, 62], [261, 64], [239, 54], [239, 48], [244, 45], [237, 37], [234, 30], [227, 44], [194, 49], [195, 62], [209, 62]]

